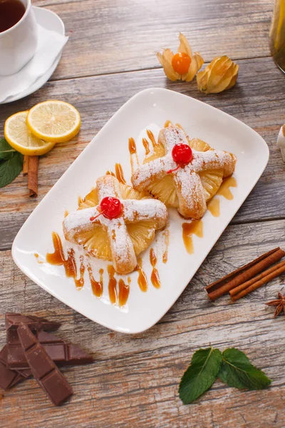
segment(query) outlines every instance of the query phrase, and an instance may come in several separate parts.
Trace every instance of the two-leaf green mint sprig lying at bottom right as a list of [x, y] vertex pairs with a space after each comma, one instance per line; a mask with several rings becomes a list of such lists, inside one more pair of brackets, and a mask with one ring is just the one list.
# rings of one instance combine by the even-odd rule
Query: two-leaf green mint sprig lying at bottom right
[[193, 354], [182, 376], [179, 396], [183, 404], [190, 404], [204, 394], [217, 378], [239, 389], [263, 389], [271, 384], [271, 379], [254, 367], [244, 352], [235, 348], [221, 352], [208, 347]]

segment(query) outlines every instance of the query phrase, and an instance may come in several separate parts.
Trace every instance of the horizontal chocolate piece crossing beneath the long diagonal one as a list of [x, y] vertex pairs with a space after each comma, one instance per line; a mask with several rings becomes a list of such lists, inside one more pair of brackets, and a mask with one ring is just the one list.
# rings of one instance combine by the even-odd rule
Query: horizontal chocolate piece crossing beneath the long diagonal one
[[[76, 345], [66, 343], [60, 337], [43, 331], [34, 332], [38, 342], [43, 345], [51, 360], [56, 365], [84, 365], [94, 359], [87, 352]], [[17, 330], [7, 330], [7, 365], [10, 369], [28, 369], [25, 352], [21, 347]]]

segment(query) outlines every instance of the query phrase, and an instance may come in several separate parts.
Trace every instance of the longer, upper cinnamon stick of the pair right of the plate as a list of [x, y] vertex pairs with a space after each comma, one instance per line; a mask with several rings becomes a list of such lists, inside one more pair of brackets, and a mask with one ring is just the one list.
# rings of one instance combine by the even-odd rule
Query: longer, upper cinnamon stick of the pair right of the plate
[[284, 256], [285, 251], [281, 250], [280, 248], [274, 248], [274, 250], [261, 255], [251, 263], [239, 267], [239, 269], [206, 287], [209, 298], [212, 301], [217, 300], [218, 297], [226, 294], [229, 292], [229, 290], [232, 290], [247, 280], [252, 279], [252, 277], [259, 274], [267, 267], [274, 265], [274, 263], [281, 260], [281, 258]]

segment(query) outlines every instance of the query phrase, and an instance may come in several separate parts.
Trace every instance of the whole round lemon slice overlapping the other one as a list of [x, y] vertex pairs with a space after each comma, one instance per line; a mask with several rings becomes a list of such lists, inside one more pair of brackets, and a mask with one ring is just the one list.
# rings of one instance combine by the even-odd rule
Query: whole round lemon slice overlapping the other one
[[31, 133], [44, 141], [64, 143], [79, 132], [81, 117], [76, 108], [64, 101], [44, 101], [28, 112]]

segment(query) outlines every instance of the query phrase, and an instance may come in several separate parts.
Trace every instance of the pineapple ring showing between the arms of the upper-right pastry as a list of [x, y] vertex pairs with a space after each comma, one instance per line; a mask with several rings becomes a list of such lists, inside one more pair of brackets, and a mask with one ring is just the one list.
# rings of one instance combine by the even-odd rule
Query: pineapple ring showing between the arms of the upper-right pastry
[[[189, 141], [190, 147], [194, 150], [212, 150], [209, 144], [199, 140], [199, 138], [193, 138], [190, 140], [187, 137], [187, 140]], [[161, 144], [157, 144], [154, 152], [152, 153], [152, 156], [145, 158], [144, 163], [150, 162], [153, 159], [161, 158], [162, 156], [165, 156], [165, 148]], [[207, 170], [203, 173], [200, 173], [200, 178], [204, 188], [205, 198], [208, 201], [217, 193], [219, 186], [222, 184], [223, 170]], [[148, 189], [155, 198], [161, 200], [168, 207], [178, 208], [179, 203], [175, 184], [170, 175], [167, 175], [161, 180], [152, 183]]]

